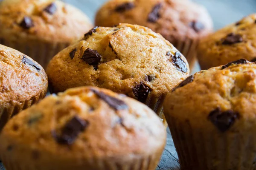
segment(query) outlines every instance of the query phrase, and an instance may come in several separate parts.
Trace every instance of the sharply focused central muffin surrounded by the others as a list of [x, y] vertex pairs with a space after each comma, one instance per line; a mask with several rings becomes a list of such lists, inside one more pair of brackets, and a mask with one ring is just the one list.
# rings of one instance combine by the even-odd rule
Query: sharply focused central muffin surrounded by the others
[[188, 77], [186, 58], [160, 34], [143, 26], [96, 27], [49, 62], [54, 93], [91, 85], [139, 100], [163, 119], [163, 99]]

